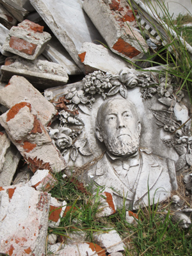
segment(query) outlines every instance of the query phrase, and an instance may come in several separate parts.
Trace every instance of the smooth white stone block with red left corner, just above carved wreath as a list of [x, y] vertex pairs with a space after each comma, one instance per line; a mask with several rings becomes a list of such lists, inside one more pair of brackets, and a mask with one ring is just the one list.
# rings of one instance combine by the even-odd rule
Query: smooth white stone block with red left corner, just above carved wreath
[[122, 60], [103, 45], [86, 42], [82, 45], [79, 56], [81, 54], [85, 54], [84, 60], [81, 61], [84, 64], [86, 74], [95, 70], [118, 74], [122, 68], [130, 67], [128, 62]]

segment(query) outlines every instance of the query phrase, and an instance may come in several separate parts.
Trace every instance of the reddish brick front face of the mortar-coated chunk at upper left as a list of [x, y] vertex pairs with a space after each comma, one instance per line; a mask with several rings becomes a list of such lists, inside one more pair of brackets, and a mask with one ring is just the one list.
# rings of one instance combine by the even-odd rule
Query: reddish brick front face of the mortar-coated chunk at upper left
[[10, 47], [19, 52], [24, 52], [26, 54], [33, 55], [35, 53], [37, 45], [29, 43], [28, 41], [21, 39], [19, 37], [12, 36], [10, 38]]

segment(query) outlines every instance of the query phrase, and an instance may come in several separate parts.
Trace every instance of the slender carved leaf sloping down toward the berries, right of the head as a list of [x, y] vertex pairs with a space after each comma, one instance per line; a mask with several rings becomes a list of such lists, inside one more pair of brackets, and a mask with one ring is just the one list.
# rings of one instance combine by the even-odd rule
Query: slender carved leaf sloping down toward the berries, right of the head
[[175, 115], [172, 112], [157, 109], [150, 110], [152, 111], [152, 114], [157, 118], [157, 120], [159, 120], [163, 124], [173, 125], [177, 128], [180, 127], [180, 125], [177, 122], [175, 122]]

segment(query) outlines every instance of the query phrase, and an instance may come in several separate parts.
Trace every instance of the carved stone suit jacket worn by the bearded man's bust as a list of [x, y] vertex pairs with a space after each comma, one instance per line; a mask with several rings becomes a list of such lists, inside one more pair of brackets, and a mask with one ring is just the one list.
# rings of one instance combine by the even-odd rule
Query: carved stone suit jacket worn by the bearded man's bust
[[[88, 171], [88, 176], [92, 177], [92, 180], [99, 186], [113, 190], [118, 207], [122, 206], [123, 197], [126, 198], [127, 209], [138, 209], [140, 206], [151, 205], [153, 200], [154, 204], [166, 200], [170, 196], [170, 192], [177, 189], [174, 161], [145, 152], [140, 152], [140, 156], [140, 177], [134, 193], [129, 190], [128, 184], [125, 186], [116, 175], [106, 154]], [[150, 202], [148, 202], [148, 191]]]

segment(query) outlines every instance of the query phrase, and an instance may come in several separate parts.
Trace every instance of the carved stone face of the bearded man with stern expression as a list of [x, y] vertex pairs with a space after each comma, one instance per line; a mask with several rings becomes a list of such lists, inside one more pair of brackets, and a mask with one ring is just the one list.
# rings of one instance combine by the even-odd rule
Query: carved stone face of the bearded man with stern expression
[[114, 100], [104, 108], [101, 127], [102, 140], [111, 154], [129, 156], [138, 151], [140, 123], [127, 100]]

